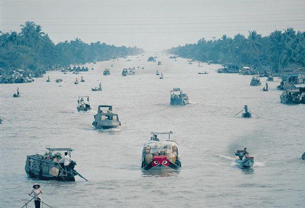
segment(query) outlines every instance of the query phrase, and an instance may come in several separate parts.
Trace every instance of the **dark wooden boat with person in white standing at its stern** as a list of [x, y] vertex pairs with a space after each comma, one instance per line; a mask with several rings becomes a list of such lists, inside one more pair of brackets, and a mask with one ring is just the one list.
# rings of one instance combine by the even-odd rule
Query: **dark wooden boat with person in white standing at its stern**
[[[44, 155], [27, 155], [25, 162], [25, 172], [29, 177], [38, 180], [75, 181], [77, 174], [74, 167], [76, 163], [72, 161], [68, 166], [67, 173], [64, 171], [64, 163], [58, 163], [63, 152], [68, 152], [71, 157], [72, 148], [48, 148], [48, 153]], [[53, 154], [54, 151], [58, 151]]]

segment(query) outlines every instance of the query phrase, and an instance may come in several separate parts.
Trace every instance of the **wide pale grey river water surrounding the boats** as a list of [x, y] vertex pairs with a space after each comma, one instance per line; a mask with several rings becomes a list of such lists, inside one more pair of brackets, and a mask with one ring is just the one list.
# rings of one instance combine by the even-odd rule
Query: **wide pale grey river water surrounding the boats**
[[[0, 85], [1, 114], [13, 122], [0, 125], [0, 207], [21, 207], [30, 199], [37, 181], [24, 171], [26, 155], [43, 154], [45, 147], [74, 148], [75, 169], [89, 180], [39, 181], [43, 200], [53, 207], [303, 206], [305, 105], [283, 105], [281, 91], [262, 92], [262, 86], [250, 86], [251, 76], [218, 74], [219, 65], [198, 67], [159, 54], [157, 66], [147, 55], [99, 62], [79, 75], [48, 72], [51, 82], [46, 75], [33, 83]], [[120, 75], [132, 66], [140, 67], [136, 75]], [[104, 68], [110, 76], [103, 76]], [[197, 74], [204, 71], [209, 74]], [[71, 84], [81, 75], [85, 82]], [[107, 90], [90, 91], [100, 81]], [[275, 78], [269, 86], [279, 82]], [[22, 96], [13, 98], [17, 86]], [[188, 93], [191, 104], [170, 106], [173, 87]], [[78, 96], [89, 96], [93, 110], [77, 112]], [[101, 104], [113, 105], [119, 128], [91, 126]], [[245, 104], [260, 117], [234, 116]], [[141, 170], [143, 143], [152, 131], [173, 131], [179, 171]], [[252, 169], [234, 163], [234, 151], [243, 147], [255, 157]]]

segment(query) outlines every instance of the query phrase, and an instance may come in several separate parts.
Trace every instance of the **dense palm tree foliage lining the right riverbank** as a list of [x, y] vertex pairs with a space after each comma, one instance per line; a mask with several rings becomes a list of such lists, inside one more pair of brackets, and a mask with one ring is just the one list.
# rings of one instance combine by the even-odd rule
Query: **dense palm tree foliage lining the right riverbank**
[[195, 44], [186, 44], [168, 50], [169, 53], [195, 60], [221, 64], [270, 66], [272, 70], [297, 62], [305, 63], [305, 33], [288, 28], [274, 31], [266, 37], [249, 31], [246, 38], [237, 34], [234, 38], [224, 35], [218, 40], [200, 39]]

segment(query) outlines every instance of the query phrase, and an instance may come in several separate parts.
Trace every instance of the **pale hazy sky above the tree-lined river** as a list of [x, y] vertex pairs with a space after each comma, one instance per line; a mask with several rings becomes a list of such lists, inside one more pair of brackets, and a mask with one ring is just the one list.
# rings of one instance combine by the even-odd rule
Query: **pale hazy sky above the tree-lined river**
[[0, 0], [0, 31], [34, 21], [55, 42], [101, 41], [162, 50], [223, 34], [305, 30], [305, 0]]

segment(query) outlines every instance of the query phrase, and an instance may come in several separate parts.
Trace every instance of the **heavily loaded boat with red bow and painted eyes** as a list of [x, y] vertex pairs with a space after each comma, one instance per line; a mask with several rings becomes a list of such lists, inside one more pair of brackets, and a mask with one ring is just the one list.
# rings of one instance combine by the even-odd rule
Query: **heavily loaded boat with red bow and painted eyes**
[[[142, 169], [179, 169], [181, 167], [177, 142], [170, 139], [172, 133], [171, 131], [151, 132], [152, 137], [150, 137], [150, 141], [144, 144], [142, 150]], [[157, 135], [160, 134], [168, 135], [168, 139], [160, 141], [157, 138]]]

